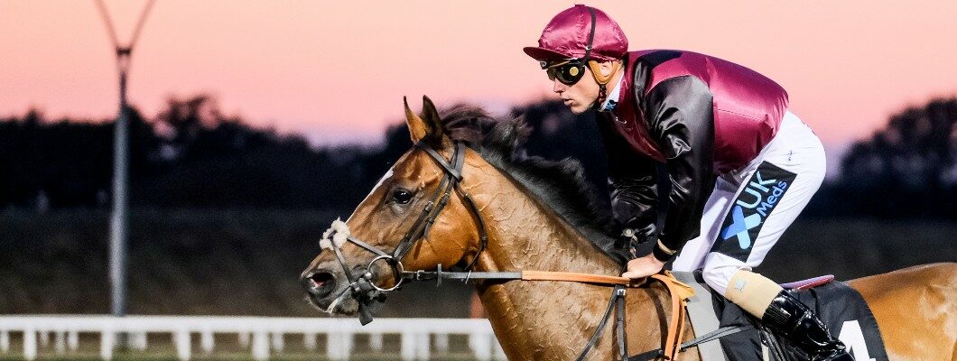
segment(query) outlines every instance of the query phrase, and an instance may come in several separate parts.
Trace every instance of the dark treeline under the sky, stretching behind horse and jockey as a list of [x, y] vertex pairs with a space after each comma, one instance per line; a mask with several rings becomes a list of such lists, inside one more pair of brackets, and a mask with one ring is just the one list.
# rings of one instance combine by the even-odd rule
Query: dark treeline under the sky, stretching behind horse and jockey
[[[397, 112], [398, 113], [398, 112]], [[516, 107], [533, 126], [529, 154], [581, 159], [606, 199], [606, 164], [593, 114], [560, 102]], [[311, 147], [299, 135], [260, 129], [221, 114], [209, 97], [171, 99], [147, 119], [130, 111], [134, 207], [270, 208], [347, 212], [411, 147], [396, 119], [377, 147]], [[893, 116], [857, 142], [841, 174], [812, 200], [810, 216], [957, 219], [957, 99]], [[0, 119], [0, 206], [107, 208], [113, 123], [49, 120], [32, 110]]]

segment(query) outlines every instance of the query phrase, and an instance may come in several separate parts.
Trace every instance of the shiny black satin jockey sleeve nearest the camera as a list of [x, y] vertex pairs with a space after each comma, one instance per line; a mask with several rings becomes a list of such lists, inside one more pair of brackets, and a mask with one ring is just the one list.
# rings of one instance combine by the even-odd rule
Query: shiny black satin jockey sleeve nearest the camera
[[[655, 257], [668, 260], [701, 233], [704, 203], [714, 189], [714, 113], [711, 91], [701, 79], [664, 80], [648, 93], [645, 120], [665, 155], [671, 192]], [[666, 249], [662, 249], [664, 245]]]

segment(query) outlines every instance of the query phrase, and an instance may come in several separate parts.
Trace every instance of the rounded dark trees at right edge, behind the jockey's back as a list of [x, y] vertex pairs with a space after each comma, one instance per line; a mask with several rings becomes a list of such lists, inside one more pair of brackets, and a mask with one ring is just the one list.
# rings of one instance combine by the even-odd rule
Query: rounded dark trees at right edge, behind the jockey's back
[[909, 107], [841, 163], [837, 191], [851, 214], [957, 219], [957, 99]]

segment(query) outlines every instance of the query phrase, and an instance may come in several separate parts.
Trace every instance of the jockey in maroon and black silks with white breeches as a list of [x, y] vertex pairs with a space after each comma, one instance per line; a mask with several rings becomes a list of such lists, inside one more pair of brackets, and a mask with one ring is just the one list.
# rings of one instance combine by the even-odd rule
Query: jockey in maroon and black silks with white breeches
[[[674, 259], [674, 270], [701, 269], [709, 286], [812, 360], [854, 360], [810, 308], [751, 272], [824, 178], [821, 142], [788, 110], [780, 85], [713, 56], [628, 52], [618, 24], [584, 5], [555, 15], [524, 52], [573, 113], [598, 112], [622, 237], [657, 242], [622, 276], [647, 277]], [[658, 169], [670, 185], [660, 230]]]

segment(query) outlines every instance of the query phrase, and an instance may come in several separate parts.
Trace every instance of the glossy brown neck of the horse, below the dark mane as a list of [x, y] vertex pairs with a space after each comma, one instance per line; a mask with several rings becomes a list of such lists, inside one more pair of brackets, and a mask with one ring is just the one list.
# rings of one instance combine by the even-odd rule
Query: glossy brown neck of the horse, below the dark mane
[[[514, 181], [504, 177], [498, 181], [483, 180], [477, 188], [480, 189], [470, 192], [479, 198], [489, 231], [488, 249], [478, 263], [480, 270], [619, 274], [619, 266], [612, 259]], [[576, 282], [485, 282], [478, 289], [509, 359], [574, 358], [598, 325], [612, 296], [611, 287]], [[647, 294], [637, 299], [651, 301]], [[629, 304], [639, 308], [630, 309], [629, 317], [653, 319], [654, 315], [639, 313], [642, 309], [654, 312], [655, 307]], [[611, 329], [613, 322], [608, 327]], [[598, 352], [612, 349], [608, 346], [611, 338], [604, 340], [605, 347]]]

